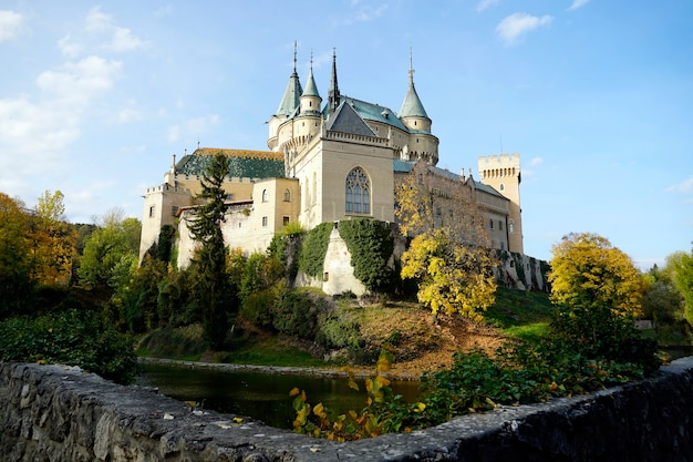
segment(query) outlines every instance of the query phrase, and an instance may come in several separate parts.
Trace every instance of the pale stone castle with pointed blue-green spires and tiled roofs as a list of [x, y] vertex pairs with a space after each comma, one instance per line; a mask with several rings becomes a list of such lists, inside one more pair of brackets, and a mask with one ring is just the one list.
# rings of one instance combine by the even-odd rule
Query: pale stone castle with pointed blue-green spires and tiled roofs
[[438, 138], [414, 86], [410, 61], [408, 88], [399, 112], [342, 94], [337, 55], [327, 101], [320, 96], [312, 63], [306, 86], [296, 70], [275, 114], [269, 119], [269, 151], [200, 148], [176, 162], [164, 183], [147, 188], [139, 257], [156, 243], [163, 225], [179, 227], [178, 266], [192, 259], [195, 243], [186, 218], [195, 212], [200, 177], [211, 156], [228, 157], [224, 184], [226, 244], [246, 253], [263, 251], [289, 223], [311, 229], [324, 222], [369, 217], [394, 222], [394, 188], [417, 162], [428, 171], [473, 191], [486, 220], [492, 247], [523, 254], [518, 154], [480, 156], [480, 181], [436, 167]]

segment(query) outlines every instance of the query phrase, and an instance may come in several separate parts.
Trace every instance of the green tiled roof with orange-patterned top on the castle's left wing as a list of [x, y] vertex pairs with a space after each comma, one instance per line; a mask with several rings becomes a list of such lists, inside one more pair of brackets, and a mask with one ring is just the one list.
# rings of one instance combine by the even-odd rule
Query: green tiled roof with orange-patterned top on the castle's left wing
[[283, 155], [269, 151], [197, 150], [176, 164], [177, 175], [201, 175], [217, 153], [228, 157], [228, 177], [276, 178], [285, 175]]

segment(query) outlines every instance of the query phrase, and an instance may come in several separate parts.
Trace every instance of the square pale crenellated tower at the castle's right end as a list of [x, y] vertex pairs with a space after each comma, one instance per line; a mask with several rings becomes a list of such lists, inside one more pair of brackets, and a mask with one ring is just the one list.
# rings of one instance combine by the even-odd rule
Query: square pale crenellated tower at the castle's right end
[[482, 183], [492, 186], [510, 201], [510, 209], [506, 232], [510, 251], [524, 254], [523, 247], [523, 215], [520, 207], [519, 185], [521, 182], [520, 156], [500, 154], [480, 156], [478, 160]]

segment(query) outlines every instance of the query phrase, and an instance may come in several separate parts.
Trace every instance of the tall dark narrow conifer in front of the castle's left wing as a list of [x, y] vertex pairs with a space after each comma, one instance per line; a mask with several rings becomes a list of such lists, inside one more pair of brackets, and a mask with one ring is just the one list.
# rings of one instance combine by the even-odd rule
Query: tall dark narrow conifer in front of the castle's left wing
[[203, 312], [205, 336], [213, 348], [219, 348], [224, 343], [228, 330], [227, 310], [234, 301], [226, 273], [227, 251], [221, 234], [221, 223], [226, 214], [226, 192], [221, 185], [227, 174], [228, 160], [219, 153], [203, 173], [203, 191], [197, 199], [204, 203], [188, 222], [193, 238], [200, 244], [193, 259], [193, 265], [197, 266], [200, 275], [194, 291]]

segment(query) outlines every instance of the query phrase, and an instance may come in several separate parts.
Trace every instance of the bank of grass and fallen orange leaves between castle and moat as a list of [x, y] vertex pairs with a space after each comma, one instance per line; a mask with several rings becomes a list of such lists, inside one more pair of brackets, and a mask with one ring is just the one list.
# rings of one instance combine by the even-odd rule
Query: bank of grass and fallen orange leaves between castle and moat
[[312, 368], [349, 365], [356, 370], [372, 370], [368, 365], [374, 363], [381, 349], [386, 348], [394, 357], [392, 374], [416, 379], [424, 371], [451, 366], [456, 351], [480, 348], [493, 352], [508, 338], [531, 337], [546, 327], [551, 314], [546, 294], [506, 288], [499, 288], [496, 305], [482, 322], [461, 316], [441, 316], [434, 322], [430, 310], [406, 301], [364, 304], [348, 298], [331, 300], [330, 309], [343, 325], [358, 327], [355, 333], [349, 333], [359, 336], [355, 361], [353, 356], [348, 359], [346, 348], [325, 350], [318, 342], [272, 335], [240, 320], [227, 351], [208, 351], [201, 328], [188, 326], [147, 335], [138, 353], [206, 362]]

